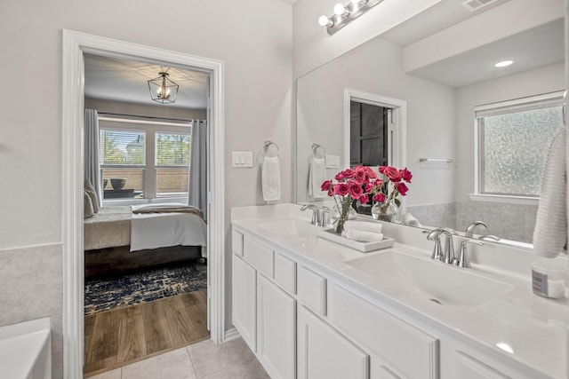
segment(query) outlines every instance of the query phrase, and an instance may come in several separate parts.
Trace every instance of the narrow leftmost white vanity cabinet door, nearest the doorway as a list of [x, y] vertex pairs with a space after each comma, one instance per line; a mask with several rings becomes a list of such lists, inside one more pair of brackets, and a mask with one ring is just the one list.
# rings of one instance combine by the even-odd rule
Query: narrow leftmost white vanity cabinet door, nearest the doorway
[[257, 329], [257, 271], [244, 262], [233, 258], [233, 325], [252, 351], [256, 351]]

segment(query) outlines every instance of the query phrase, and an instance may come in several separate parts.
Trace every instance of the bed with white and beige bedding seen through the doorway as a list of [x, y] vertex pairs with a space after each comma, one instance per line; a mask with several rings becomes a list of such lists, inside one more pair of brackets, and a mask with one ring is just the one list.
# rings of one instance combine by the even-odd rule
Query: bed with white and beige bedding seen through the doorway
[[85, 277], [207, 258], [201, 212], [173, 205], [107, 207], [85, 218]]

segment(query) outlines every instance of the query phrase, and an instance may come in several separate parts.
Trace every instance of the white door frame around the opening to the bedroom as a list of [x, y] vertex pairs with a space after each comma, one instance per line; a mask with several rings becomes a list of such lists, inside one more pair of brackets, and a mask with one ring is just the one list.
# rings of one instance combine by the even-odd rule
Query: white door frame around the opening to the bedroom
[[[63, 29], [62, 250], [63, 371], [83, 377], [84, 359], [84, 53], [137, 59], [210, 74], [208, 112], [208, 323], [213, 343], [225, 335], [224, 69], [223, 61]], [[77, 254], [77, 252], [81, 252]]]

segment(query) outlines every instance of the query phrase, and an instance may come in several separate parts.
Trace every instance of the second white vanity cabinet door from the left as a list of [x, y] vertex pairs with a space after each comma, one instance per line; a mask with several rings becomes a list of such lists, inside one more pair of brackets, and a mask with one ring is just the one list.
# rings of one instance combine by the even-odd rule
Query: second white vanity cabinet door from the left
[[296, 301], [258, 277], [257, 357], [273, 379], [296, 377]]

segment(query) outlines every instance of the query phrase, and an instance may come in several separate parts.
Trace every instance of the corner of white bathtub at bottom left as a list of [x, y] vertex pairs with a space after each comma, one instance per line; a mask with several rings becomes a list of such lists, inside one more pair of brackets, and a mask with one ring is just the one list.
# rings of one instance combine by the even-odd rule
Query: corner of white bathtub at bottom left
[[0, 328], [0, 379], [52, 379], [50, 319]]

